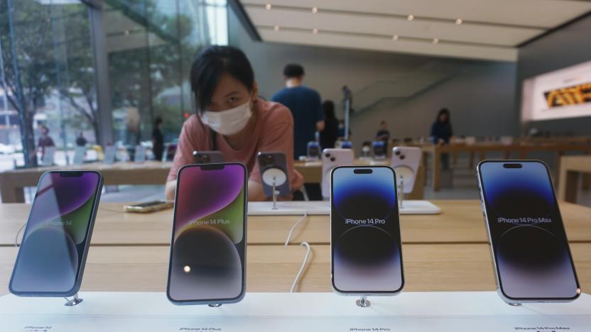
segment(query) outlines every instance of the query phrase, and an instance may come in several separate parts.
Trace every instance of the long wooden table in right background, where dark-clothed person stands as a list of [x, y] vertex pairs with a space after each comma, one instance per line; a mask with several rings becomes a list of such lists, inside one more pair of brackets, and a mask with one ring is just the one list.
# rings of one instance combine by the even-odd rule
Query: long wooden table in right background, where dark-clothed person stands
[[[457, 153], [470, 153], [472, 156], [470, 159], [471, 169], [474, 167], [473, 155], [479, 154], [479, 160], [486, 159], [486, 154], [489, 152], [501, 152], [503, 153], [504, 159], [509, 159], [511, 153], [517, 153], [519, 159], [527, 159], [528, 153], [534, 151], [548, 151], [556, 153], [557, 157], [560, 158], [567, 151], [578, 151], [585, 154], [591, 154], [590, 143], [520, 143], [504, 145], [499, 143], [477, 143], [474, 145], [466, 144], [451, 144], [451, 145], [421, 145], [423, 150], [423, 167], [427, 169], [428, 162], [430, 160], [431, 167], [433, 169], [431, 187], [433, 191], [437, 192], [440, 187], [441, 179], [441, 154], [450, 153], [452, 155]], [[558, 164], [560, 165], [560, 164]], [[560, 172], [560, 170], [558, 170]]]

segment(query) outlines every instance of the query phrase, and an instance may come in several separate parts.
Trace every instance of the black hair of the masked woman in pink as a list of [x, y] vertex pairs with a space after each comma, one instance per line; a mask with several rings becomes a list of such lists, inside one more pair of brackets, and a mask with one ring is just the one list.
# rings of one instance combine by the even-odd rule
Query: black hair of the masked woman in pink
[[195, 107], [199, 113], [211, 104], [219, 78], [226, 73], [239, 80], [249, 91], [254, 88], [254, 72], [242, 50], [212, 45], [199, 52], [191, 66], [190, 75]]

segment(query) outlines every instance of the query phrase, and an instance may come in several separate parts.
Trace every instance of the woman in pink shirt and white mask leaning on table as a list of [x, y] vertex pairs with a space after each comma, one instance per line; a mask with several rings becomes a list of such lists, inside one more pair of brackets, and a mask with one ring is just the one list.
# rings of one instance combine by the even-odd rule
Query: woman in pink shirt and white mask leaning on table
[[285, 106], [257, 97], [258, 86], [246, 55], [229, 46], [210, 46], [193, 62], [191, 90], [197, 114], [183, 125], [166, 197], [174, 199], [180, 167], [193, 163], [193, 151], [219, 150], [226, 161], [242, 162], [249, 172], [249, 201], [266, 199], [256, 162], [259, 151], [286, 154], [291, 189], [303, 177], [293, 167], [293, 117]]

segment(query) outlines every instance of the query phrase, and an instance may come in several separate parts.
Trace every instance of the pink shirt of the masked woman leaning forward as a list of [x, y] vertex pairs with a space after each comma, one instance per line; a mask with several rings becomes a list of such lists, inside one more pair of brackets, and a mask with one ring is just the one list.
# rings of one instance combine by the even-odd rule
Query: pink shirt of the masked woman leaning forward
[[[288, 176], [291, 189], [300, 189], [303, 177], [293, 168], [293, 116], [291, 111], [278, 103], [256, 99], [253, 112], [256, 124], [249, 141], [240, 150], [234, 150], [224, 138], [216, 135], [217, 150], [224, 155], [226, 162], [242, 162], [249, 171], [249, 181], [261, 183], [259, 151], [281, 151], [286, 154]], [[173, 166], [168, 173], [168, 181], [176, 179], [178, 170], [184, 165], [193, 164], [193, 151], [212, 150], [210, 128], [204, 125], [199, 116], [189, 116], [180, 131]]]

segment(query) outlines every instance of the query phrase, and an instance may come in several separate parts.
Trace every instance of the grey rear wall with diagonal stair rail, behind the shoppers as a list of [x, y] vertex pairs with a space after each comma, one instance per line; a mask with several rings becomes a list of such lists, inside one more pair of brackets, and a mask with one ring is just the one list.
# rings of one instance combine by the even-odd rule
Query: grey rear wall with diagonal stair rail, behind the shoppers
[[[511, 135], [519, 133], [516, 118], [516, 65], [511, 62], [482, 62], [452, 58], [423, 57], [387, 52], [367, 52], [302, 45], [261, 43], [251, 40], [234, 13], [229, 18], [229, 43], [251, 60], [265, 98], [283, 87], [283, 66], [298, 62], [305, 67], [305, 84], [320, 92], [322, 99], [340, 101], [344, 84], [356, 93], [375, 82], [408, 75], [446, 72], [449, 78], [410, 99], [385, 99], [354, 114], [352, 132], [358, 148], [372, 140], [382, 119], [394, 137], [428, 136], [430, 124], [442, 107], [452, 112], [457, 135]], [[357, 103], [357, 106], [359, 104]]]

